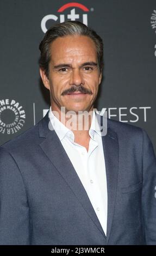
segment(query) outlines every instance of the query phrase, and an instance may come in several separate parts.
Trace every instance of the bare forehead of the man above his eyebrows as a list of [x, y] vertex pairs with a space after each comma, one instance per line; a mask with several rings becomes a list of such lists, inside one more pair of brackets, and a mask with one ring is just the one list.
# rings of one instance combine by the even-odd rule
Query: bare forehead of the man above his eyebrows
[[97, 59], [95, 42], [84, 35], [67, 35], [55, 39], [51, 44], [51, 60], [88, 57]]

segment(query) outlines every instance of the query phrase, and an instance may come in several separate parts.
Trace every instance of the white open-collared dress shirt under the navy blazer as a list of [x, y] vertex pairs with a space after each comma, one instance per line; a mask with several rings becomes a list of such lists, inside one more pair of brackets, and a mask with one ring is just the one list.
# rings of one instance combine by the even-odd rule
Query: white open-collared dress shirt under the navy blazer
[[105, 235], [107, 234], [107, 178], [100, 128], [93, 111], [89, 129], [89, 150], [74, 142], [74, 133], [52, 113], [49, 118], [74, 169], [82, 182]]

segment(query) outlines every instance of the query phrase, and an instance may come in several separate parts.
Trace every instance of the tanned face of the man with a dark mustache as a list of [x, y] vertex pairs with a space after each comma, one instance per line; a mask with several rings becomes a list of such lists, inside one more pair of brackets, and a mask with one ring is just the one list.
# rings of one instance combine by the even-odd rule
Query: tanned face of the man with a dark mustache
[[90, 111], [96, 99], [101, 72], [95, 43], [82, 35], [57, 38], [51, 45], [49, 76], [40, 70], [51, 92], [52, 110]]

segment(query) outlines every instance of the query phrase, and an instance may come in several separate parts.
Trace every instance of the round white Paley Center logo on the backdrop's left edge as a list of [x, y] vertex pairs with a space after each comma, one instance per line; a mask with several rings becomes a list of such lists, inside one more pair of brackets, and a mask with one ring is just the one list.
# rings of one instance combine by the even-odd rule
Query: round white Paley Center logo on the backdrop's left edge
[[0, 133], [7, 135], [18, 132], [24, 125], [26, 113], [15, 100], [0, 100]]

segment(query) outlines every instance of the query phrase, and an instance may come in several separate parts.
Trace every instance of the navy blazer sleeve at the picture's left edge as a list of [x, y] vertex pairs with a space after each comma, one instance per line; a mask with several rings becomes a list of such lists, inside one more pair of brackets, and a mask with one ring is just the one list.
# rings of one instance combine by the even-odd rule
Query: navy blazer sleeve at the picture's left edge
[[0, 148], [0, 245], [29, 245], [26, 189], [13, 156]]

